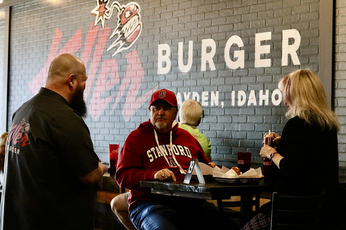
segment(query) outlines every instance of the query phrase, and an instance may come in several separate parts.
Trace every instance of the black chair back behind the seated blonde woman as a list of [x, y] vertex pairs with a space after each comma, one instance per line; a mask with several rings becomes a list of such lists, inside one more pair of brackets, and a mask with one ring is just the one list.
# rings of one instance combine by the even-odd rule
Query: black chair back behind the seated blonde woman
[[273, 193], [271, 229], [318, 229], [325, 192], [310, 197]]

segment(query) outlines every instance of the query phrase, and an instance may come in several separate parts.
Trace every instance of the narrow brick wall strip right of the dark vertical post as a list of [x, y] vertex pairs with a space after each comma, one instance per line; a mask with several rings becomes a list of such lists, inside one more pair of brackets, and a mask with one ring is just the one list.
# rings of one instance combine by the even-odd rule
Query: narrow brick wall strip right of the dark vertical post
[[335, 12], [335, 113], [338, 133], [339, 165], [346, 166], [346, 2], [336, 1]]

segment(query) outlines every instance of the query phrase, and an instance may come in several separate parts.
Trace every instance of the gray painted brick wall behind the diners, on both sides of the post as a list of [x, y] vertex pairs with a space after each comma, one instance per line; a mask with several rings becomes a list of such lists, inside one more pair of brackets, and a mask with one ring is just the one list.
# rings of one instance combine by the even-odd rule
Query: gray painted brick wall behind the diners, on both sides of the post
[[[128, 2], [119, 1], [124, 5]], [[318, 72], [319, 1], [136, 2], [140, 6], [142, 32], [132, 47], [114, 56], [115, 50], [107, 51], [107, 48], [115, 40], [110, 34], [117, 25], [117, 12], [104, 20], [104, 29], [102, 21], [94, 27], [96, 16], [91, 11], [96, 7], [95, 0], [66, 0], [57, 5], [34, 0], [12, 7], [9, 123], [11, 114], [44, 85], [53, 54], [69, 51], [86, 64], [89, 85], [85, 97], [90, 114], [86, 122], [102, 160], [108, 158], [109, 143], [122, 146], [128, 133], [148, 119], [151, 93], [167, 88], [180, 101], [189, 95], [202, 103], [203, 119], [199, 128], [211, 140], [214, 160], [227, 165], [223, 161], [235, 161], [236, 152], [251, 151], [253, 162], [261, 162], [263, 134], [268, 130], [281, 133], [287, 121], [283, 103], [276, 106], [270, 97], [277, 82], [285, 73], [298, 68], [309, 67]], [[341, 55], [337, 67], [343, 70], [345, 9], [342, 0], [337, 2], [338, 55]], [[289, 56], [288, 65], [282, 66], [282, 34], [292, 29], [301, 37], [297, 50], [300, 64]], [[271, 32], [271, 39], [261, 42], [261, 46], [270, 46], [270, 53], [261, 54], [261, 59], [270, 59], [270, 67], [255, 68], [255, 36], [264, 32]], [[234, 51], [244, 50], [245, 61], [244, 68], [233, 70], [226, 64], [224, 50], [234, 35], [241, 38], [244, 46], [238, 48], [234, 44], [229, 56], [235, 61]], [[193, 62], [188, 72], [182, 72], [178, 63], [179, 42], [183, 42], [186, 65], [189, 41], [193, 42]], [[205, 41], [215, 42], [212, 58], [215, 68], [209, 61], [205, 65], [202, 61]], [[294, 42], [290, 40], [289, 44]], [[158, 67], [166, 67], [167, 62], [158, 62], [160, 44], [167, 44], [171, 52], [171, 68], [163, 74], [158, 74]], [[211, 51], [210, 47], [206, 48], [206, 53]], [[337, 76], [336, 110], [343, 118], [345, 77]], [[269, 91], [267, 105], [260, 105], [260, 90]], [[238, 103], [239, 91], [246, 95], [245, 104]], [[249, 103], [250, 97], [254, 97], [256, 104]], [[340, 122], [345, 124], [345, 119]], [[345, 164], [345, 129], [340, 133], [340, 161]]]

